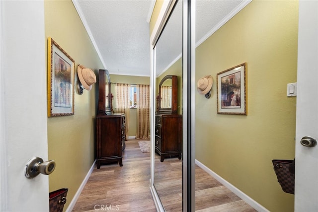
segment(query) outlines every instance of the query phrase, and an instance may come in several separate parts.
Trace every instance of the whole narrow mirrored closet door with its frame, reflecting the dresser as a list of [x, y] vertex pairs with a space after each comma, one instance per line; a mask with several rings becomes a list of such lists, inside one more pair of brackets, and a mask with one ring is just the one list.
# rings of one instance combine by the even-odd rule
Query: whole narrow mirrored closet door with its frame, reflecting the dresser
[[[187, 73], [188, 42], [183, 30], [183, 13], [186, 0], [163, 2], [159, 25], [151, 38], [153, 110], [152, 110], [152, 170], [151, 191], [159, 211], [187, 211], [188, 171], [187, 134], [188, 122], [184, 114], [184, 73]], [[156, 31], [157, 30], [157, 31]], [[187, 38], [185, 38], [187, 39]], [[185, 44], [186, 45], [185, 45]], [[191, 101], [190, 98], [188, 98]], [[191, 110], [190, 110], [191, 111]], [[184, 129], [186, 129], [184, 131]], [[189, 168], [191, 172], [191, 169]], [[185, 181], [185, 182], [184, 182]], [[194, 197], [194, 195], [193, 195]], [[182, 201], [183, 200], [183, 201]], [[194, 200], [193, 200], [194, 201]], [[190, 200], [191, 202], [191, 200]], [[190, 204], [191, 205], [191, 204]]]

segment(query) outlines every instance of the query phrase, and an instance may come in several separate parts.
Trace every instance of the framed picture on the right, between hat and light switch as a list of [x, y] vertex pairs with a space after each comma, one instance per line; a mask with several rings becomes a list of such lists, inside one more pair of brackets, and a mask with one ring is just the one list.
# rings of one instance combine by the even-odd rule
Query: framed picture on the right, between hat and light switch
[[246, 66], [217, 73], [218, 114], [247, 115]]

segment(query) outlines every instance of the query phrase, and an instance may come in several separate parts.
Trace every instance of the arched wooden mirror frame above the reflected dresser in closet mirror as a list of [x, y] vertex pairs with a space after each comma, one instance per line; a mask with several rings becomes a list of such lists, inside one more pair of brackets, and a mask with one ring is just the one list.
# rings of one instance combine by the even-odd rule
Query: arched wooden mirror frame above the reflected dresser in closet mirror
[[[171, 79], [171, 108], [161, 108], [161, 85], [165, 80]], [[159, 94], [157, 96], [158, 101], [158, 114], [177, 114], [178, 110], [178, 77], [176, 75], [166, 75], [159, 83]]]

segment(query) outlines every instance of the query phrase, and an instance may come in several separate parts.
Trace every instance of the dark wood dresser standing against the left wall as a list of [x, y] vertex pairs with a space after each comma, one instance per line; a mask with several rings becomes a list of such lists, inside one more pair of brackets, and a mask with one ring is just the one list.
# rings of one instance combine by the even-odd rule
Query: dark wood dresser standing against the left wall
[[118, 161], [123, 166], [122, 151], [125, 148], [125, 114], [96, 116], [96, 165]]

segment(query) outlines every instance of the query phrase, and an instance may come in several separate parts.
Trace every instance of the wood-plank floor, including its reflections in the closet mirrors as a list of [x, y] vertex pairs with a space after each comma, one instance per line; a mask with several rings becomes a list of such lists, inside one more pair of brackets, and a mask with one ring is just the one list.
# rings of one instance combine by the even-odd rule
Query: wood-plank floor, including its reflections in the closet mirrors
[[[160, 183], [160, 179], [157, 179], [159, 184], [156, 186], [161, 201], [165, 210], [170, 212], [182, 211], [179, 186], [181, 179], [176, 178], [181, 176], [180, 161], [177, 158], [165, 159], [164, 165], [173, 166], [175, 173], [161, 175], [165, 178], [164, 183]], [[196, 211], [255, 212], [198, 166], [195, 168], [195, 176]], [[149, 189], [149, 179], [150, 153], [142, 153], [138, 141], [126, 141], [123, 166], [110, 164], [102, 165], [100, 169], [95, 168], [73, 212], [107, 211], [107, 209], [122, 212], [156, 212]], [[163, 187], [164, 189], [161, 189]]]

